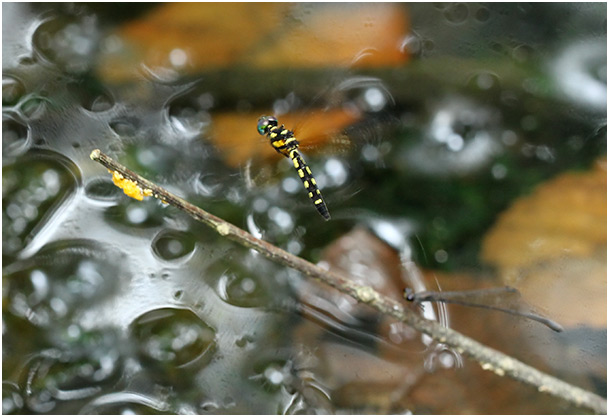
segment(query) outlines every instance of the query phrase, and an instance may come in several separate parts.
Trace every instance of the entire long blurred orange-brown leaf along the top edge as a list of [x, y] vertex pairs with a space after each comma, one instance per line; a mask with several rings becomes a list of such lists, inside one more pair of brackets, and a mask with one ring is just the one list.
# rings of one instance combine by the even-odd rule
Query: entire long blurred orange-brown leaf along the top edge
[[117, 31], [100, 74], [124, 81], [142, 64], [186, 74], [401, 65], [407, 27], [398, 4], [166, 3]]

